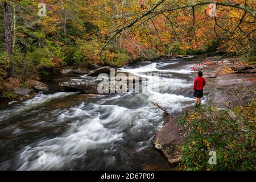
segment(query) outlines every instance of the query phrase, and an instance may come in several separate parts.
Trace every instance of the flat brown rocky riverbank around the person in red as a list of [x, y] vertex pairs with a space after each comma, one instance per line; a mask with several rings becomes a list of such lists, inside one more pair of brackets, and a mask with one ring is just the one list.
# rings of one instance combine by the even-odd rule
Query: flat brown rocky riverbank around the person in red
[[[245, 65], [241, 63], [240, 59], [217, 61], [218, 59], [218, 57], [211, 57], [199, 66], [199, 69], [203, 70], [203, 77], [207, 81], [204, 89], [207, 104], [216, 107], [216, 110], [230, 109], [237, 105], [247, 104], [251, 99], [250, 96], [246, 93], [238, 95], [236, 90], [255, 89], [254, 73], [256, 65]], [[185, 111], [192, 109], [192, 107], [185, 108], [174, 118], [164, 113], [163, 121], [166, 124], [152, 140], [155, 148], [162, 150], [170, 163], [181, 161], [181, 146], [184, 142], [185, 131], [182, 126], [177, 125], [177, 120], [183, 116]]]

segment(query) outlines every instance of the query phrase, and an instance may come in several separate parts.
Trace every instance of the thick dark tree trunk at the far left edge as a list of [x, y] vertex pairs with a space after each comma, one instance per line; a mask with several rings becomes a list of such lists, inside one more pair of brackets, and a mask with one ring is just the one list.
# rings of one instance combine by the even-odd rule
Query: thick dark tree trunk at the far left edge
[[11, 5], [8, 2], [3, 2], [4, 18], [5, 18], [5, 49], [7, 56], [10, 60], [10, 67], [7, 71], [7, 77], [14, 76], [14, 63], [11, 59], [12, 47], [12, 35], [11, 35]]

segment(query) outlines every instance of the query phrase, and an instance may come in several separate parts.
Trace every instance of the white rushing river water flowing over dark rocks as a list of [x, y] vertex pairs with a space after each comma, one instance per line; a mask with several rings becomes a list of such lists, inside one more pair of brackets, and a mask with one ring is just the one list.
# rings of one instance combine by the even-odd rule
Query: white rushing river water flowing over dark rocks
[[[0, 106], [0, 169], [171, 169], [151, 143], [163, 126], [163, 111], [151, 101], [172, 113], [191, 106], [195, 74], [190, 68], [199, 62], [196, 57], [160, 59], [121, 69], [142, 76], [161, 73], [154, 78], [159, 92], [146, 94], [64, 92], [61, 76], [45, 78], [48, 92]], [[46, 164], [38, 163], [40, 151], [46, 152]]]

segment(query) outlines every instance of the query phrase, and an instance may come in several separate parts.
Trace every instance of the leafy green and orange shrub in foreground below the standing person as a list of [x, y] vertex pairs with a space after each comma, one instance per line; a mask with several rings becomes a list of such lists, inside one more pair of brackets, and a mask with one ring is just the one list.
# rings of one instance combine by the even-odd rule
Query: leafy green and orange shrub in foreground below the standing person
[[[194, 110], [183, 118], [184, 136], [181, 166], [187, 170], [255, 170], [255, 121], [247, 121], [230, 110], [213, 107]], [[209, 151], [217, 152], [217, 164], [210, 165]]]

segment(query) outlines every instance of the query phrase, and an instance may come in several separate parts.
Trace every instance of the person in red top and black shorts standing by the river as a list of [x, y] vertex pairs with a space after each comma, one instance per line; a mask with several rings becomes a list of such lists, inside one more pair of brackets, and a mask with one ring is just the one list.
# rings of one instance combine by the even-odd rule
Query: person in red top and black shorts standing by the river
[[196, 107], [201, 105], [202, 97], [203, 97], [203, 89], [205, 85], [205, 78], [203, 78], [203, 72], [197, 72], [197, 77], [194, 80], [194, 97], [196, 97]]

